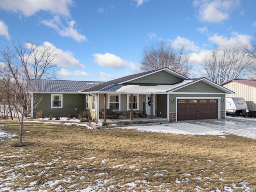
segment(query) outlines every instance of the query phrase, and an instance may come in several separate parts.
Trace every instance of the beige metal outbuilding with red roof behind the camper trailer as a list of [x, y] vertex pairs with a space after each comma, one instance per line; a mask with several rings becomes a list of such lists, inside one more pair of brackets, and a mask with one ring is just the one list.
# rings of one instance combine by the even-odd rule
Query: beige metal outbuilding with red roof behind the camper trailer
[[249, 109], [249, 116], [256, 117], [256, 80], [231, 79], [220, 84], [221, 86], [235, 92], [227, 97], [242, 97]]

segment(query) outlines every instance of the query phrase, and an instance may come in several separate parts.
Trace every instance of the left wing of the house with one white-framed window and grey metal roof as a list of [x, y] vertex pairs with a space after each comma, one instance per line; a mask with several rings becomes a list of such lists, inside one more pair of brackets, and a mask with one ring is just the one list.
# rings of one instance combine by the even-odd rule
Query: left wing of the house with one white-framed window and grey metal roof
[[104, 82], [70, 80], [33, 80], [31, 117], [37, 112], [42, 116], [77, 116], [84, 110], [85, 95], [81, 90]]

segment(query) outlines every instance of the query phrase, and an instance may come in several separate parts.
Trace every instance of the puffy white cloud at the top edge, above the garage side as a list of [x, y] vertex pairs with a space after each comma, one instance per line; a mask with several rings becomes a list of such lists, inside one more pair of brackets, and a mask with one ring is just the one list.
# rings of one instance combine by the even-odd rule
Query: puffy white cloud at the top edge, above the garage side
[[240, 0], [194, 0], [194, 6], [199, 6], [199, 20], [219, 23], [228, 20], [230, 12], [240, 5]]

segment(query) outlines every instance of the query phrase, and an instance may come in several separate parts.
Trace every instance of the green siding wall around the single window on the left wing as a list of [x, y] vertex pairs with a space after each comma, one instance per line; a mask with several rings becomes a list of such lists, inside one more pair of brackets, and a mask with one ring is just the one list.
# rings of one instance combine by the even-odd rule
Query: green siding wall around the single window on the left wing
[[[37, 111], [42, 111], [42, 116], [76, 116], [84, 110], [84, 94], [62, 94], [63, 104], [60, 109], [51, 109], [51, 94], [38, 94], [34, 98], [34, 106], [37, 98], [42, 96], [42, 100], [36, 108], [34, 108], [33, 117], [36, 117]], [[75, 108], [77, 111], [75, 111]]]

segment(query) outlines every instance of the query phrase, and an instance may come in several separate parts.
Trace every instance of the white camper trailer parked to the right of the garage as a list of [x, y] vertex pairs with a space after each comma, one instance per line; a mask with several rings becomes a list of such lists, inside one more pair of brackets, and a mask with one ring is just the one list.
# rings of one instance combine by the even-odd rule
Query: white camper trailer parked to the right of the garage
[[248, 106], [242, 97], [226, 97], [226, 114], [248, 117]]

